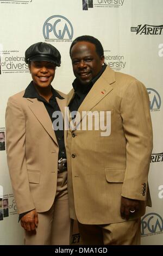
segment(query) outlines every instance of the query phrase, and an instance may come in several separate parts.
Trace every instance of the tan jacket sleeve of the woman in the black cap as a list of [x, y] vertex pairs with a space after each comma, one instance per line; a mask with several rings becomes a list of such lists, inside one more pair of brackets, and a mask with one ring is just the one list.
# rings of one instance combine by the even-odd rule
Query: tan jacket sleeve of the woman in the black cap
[[[26, 117], [21, 106], [9, 98], [5, 114], [7, 162], [19, 214], [35, 208], [26, 167]], [[33, 142], [31, 142], [33, 143]]]

